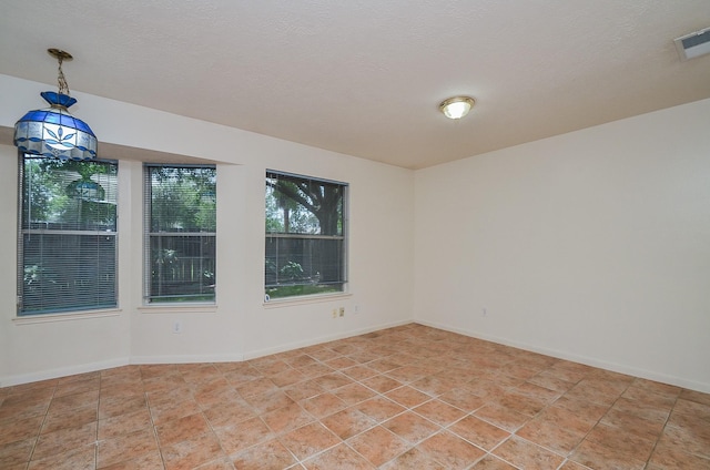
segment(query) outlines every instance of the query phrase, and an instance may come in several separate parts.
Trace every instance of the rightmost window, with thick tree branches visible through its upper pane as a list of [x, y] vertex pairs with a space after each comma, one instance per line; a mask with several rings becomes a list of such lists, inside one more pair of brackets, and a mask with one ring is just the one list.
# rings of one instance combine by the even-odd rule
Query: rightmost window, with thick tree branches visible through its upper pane
[[266, 172], [266, 299], [343, 292], [347, 185]]

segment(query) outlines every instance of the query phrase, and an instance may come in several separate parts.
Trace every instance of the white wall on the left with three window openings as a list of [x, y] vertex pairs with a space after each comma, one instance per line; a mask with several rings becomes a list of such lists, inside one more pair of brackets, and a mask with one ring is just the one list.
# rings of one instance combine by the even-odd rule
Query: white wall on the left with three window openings
[[[7, 131], [28, 110], [43, 108], [39, 92], [51, 89], [0, 75], [0, 126]], [[122, 160], [119, 309], [90, 318], [18, 320], [17, 149], [2, 142], [7, 145], [0, 145], [0, 386], [130, 361], [240, 360], [410, 320], [412, 171], [99, 96], [72, 95], [79, 100], [72, 113], [91, 124], [100, 153], [104, 143], [102, 157], [122, 155], [120, 147], [105, 145], [110, 143], [217, 162], [217, 306], [143, 308], [142, 167], [140, 162]], [[347, 296], [264, 305], [266, 168], [349, 183]], [[390, 234], [398, 236], [386, 236]], [[341, 306], [345, 317], [333, 319], [332, 309]], [[172, 333], [175, 320], [182, 323], [182, 334]]]

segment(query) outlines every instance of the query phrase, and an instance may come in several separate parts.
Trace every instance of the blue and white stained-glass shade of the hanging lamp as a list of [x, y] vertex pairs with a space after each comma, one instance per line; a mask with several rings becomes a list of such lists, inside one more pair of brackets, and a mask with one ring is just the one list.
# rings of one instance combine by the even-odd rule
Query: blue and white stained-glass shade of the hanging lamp
[[68, 94], [40, 93], [50, 108], [30, 111], [14, 124], [14, 145], [20, 152], [61, 160], [97, 157], [97, 136], [89, 124], [69, 113], [77, 102]]

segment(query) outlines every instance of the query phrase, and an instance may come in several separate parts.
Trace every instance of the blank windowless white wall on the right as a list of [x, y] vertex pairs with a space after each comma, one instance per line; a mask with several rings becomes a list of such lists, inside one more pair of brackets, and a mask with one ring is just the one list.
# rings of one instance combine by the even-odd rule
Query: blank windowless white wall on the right
[[710, 391], [710, 100], [422, 170], [415, 194], [417, 321]]

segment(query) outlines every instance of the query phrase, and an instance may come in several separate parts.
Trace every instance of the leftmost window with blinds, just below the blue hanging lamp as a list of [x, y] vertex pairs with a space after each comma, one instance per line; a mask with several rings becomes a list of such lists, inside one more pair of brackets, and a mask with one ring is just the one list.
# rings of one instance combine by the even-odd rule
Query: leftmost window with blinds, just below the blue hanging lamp
[[116, 306], [116, 174], [20, 154], [18, 315]]

